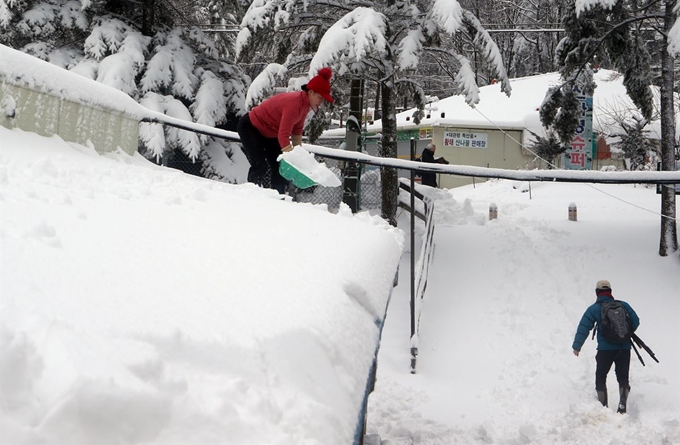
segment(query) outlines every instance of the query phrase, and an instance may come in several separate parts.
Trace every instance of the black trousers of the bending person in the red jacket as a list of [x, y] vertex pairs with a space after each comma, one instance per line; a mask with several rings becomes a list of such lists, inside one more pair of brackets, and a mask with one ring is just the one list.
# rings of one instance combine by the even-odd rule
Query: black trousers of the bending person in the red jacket
[[248, 182], [284, 193], [288, 181], [279, 173], [279, 163], [276, 160], [281, 154], [279, 140], [262, 136], [250, 122], [247, 113], [239, 119], [236, 131], [241, 137], [243, 154], [250, 162]]

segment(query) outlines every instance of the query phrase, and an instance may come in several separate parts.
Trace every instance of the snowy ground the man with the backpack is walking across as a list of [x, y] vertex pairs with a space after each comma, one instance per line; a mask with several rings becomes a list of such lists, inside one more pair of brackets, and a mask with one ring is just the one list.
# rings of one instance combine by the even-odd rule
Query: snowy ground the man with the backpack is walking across
[[[680, 258], [658, 256], [655, 189], [490, 181], [432, 196], [418, 373], [404, 285], [387, 315], [368, 432], [390, 445], [680, 444]], [[492, 202], [499, 216], [488, 221]], [[596, 341], [571, 351], [600, 279], [637, 311], [660, 360], [641, 351], [643, 367], [633, 354], [627, 415], [595, 397]], [[617, 401], [613, 369], [608, 383]]]

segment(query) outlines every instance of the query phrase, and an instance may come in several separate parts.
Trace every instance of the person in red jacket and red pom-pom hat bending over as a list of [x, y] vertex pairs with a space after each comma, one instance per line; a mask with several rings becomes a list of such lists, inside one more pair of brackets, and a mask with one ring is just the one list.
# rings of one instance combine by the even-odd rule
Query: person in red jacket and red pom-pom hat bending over
[[279, 174], [276, 158], [302, 143], [302, 130], [310, 110], [317, 112], [324, 101], [333, 102], [332, 76], [330, 68], [321, 68], [302, 85], [302, 91], [270, 97], [239, 120], [236, 131], [250, 162], [248, 182], [285, 192], [288, 181]]

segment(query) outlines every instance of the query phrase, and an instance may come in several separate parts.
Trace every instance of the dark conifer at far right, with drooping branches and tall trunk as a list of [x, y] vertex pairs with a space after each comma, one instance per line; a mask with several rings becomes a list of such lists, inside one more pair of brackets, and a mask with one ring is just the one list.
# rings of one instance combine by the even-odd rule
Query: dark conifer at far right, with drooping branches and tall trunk
[[[678, 0], [652, 2], [644, 8], [636, 2], [611, 0], [579, 0], [572, 5], [563, 19], [566, 36], [557, 54], [565, 83], [547, 93], [541, 107], [543, 125], [560, 125], [560, 137], [568, 136], [578, 111], [573, 107], [574, 82], [595, 58], [603, 67], [623, 74], [623, 84], [639, 109], [641, 122], [649, 121], [653, 113], [650, 87], [655, 76], [650, 50], [661, 45], [655, 67], [660, 71], [656, 77], [660, 85], [661, 167], [675, 170], [677, 118], [673, 91], [677, 86], [672, 56], [677, 54], [677, 16]], [[661, 256], [678, 250], [675, 205], [675, 189], [662, 187]]]

